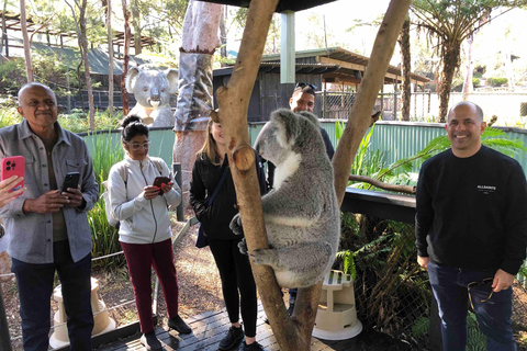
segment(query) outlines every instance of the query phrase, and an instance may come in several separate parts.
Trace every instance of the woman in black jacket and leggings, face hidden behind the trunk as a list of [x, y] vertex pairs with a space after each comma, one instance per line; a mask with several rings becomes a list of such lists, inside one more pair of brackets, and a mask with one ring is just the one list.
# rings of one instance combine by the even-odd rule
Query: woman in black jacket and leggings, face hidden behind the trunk
[[[210, 118], [205, 143], [198, 151], [192, 170], [190, 204], [203, 226], [220, 271], [223, 298], [232, 324], [227, 335], [220, 342], [220, 350], [231, 350], [244, 338], [244, 331], [239, 325], [239, 309], [242, 309], [246, 337], [242, 350], [264, 350], [256, 341], [257, 297], [249, 258], [238, 249], [243, 237], [235, 235], [228, 227], [238, 210], [226, 152], [222, 125]], [[223, 172], [227, 172], [225, 181], [220, 185], [214, 202], [209, 207], [208, 196], [214, 193]], [[258, 156], [257, 172], [260, 193], [264, 194], [267, 186]]]

